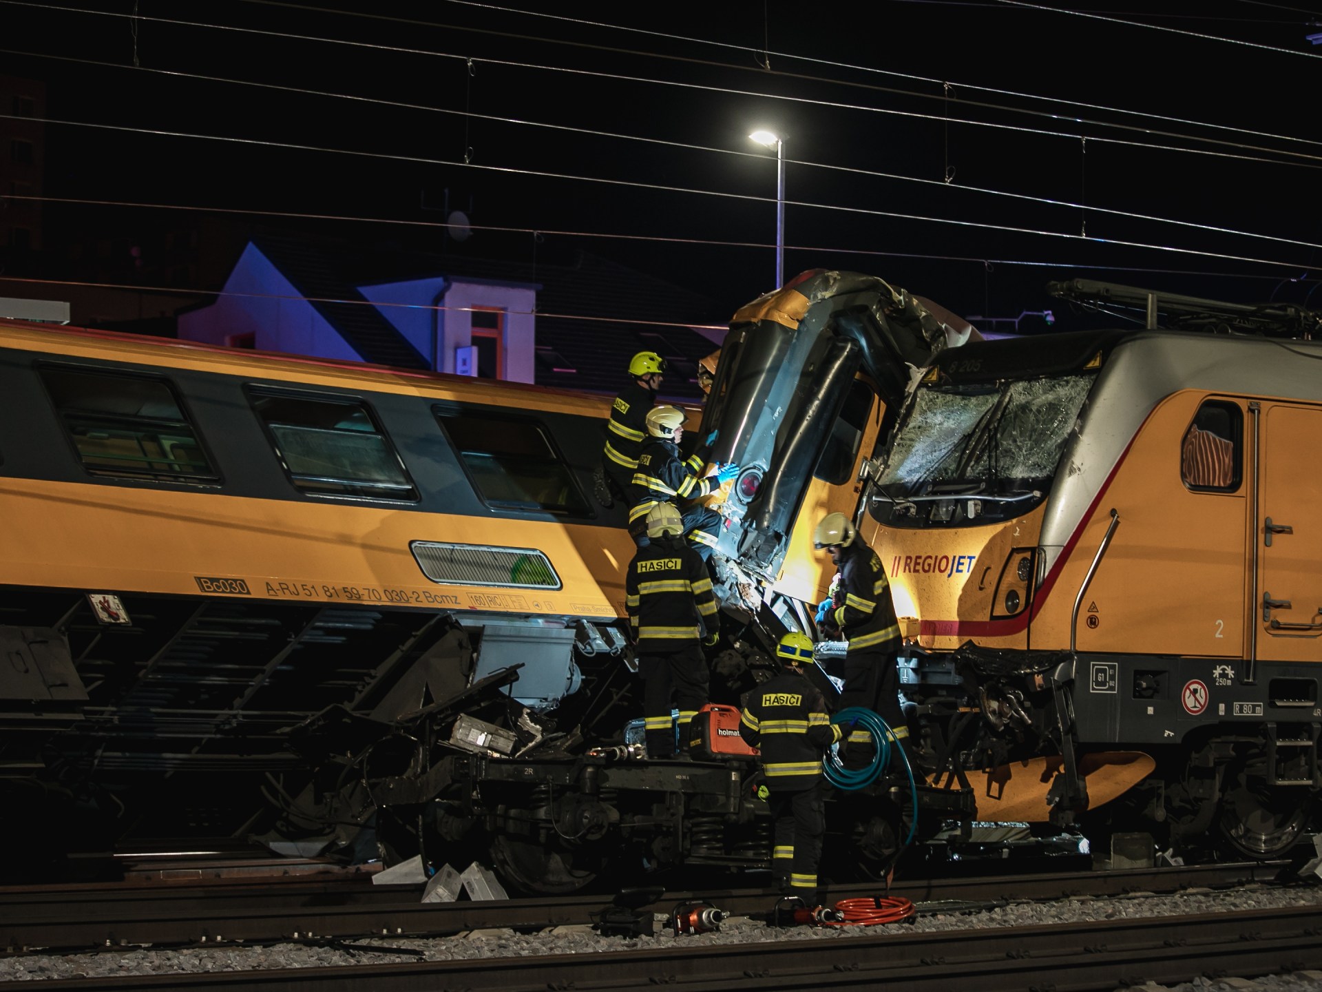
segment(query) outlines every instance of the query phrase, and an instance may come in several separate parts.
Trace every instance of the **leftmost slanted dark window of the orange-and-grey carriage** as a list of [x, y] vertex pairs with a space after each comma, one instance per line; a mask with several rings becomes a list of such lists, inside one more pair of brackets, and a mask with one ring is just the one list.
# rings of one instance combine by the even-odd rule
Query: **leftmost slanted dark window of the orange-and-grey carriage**
[[53, 366], [37, 372], [83, 468], [93, 475], [219, 481], [165, 380]]

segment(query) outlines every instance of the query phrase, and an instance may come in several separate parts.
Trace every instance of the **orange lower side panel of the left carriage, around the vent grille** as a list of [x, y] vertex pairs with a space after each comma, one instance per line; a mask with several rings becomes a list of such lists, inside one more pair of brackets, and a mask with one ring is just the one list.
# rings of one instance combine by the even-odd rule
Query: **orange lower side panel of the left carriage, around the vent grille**
[[[492, 521], [374, 507], [308, 505], [214, 493], [137, 491], [128, 504], [104, 485], [0, 481], [12, 528], [0, 585], [223, 594], [301, 602], [393, 603], [420, 608], [623, 616], [628, 534], [501, 521], [501, 541], [546, 554], [561, 589], [430, 582], [411, 541], [464, 541]], [[182, 567], [181, 567], [182, 566]]]

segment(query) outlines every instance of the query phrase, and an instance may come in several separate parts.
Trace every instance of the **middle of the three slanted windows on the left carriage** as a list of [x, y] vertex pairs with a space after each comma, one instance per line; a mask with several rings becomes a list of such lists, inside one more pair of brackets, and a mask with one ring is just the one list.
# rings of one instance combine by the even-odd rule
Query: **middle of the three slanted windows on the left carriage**
[[250, 389], [275, 454], [303, 492], [418, 500], [386, 433], [357, 399]]

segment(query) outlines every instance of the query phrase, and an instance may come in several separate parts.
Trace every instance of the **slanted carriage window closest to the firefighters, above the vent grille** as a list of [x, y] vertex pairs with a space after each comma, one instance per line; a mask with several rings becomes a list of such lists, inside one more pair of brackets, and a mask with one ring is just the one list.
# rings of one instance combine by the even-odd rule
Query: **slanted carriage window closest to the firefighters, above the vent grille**
[[541, 425], [489, 413], [434, 413], [486, 505], [588, 516], [587, 499]]

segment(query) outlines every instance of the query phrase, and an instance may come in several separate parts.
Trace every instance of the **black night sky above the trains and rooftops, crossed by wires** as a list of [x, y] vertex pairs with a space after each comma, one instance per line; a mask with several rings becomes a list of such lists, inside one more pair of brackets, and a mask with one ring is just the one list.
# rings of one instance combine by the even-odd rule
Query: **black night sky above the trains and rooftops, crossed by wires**
[[4, 1], [0, 74], [48, 86], [49, 197], [494, 258], [587, 247], [727, 316], [772, 288], [775, 161], [747, 139], [767, 127], [787, 278], [871, 272], [970, 316], [1063, 312], [1042, 287], [1073, 276], [1322, 308], [1322, 4], [512, 3], [555, 17]]

